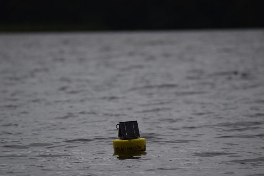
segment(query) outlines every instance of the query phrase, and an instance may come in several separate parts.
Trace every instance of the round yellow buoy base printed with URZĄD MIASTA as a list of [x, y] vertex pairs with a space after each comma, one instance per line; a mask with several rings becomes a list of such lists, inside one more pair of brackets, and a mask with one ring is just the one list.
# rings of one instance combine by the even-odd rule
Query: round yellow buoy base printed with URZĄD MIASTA
[[115, 139], [113, 140], [114, 152], [146, 151], [146, 139]]

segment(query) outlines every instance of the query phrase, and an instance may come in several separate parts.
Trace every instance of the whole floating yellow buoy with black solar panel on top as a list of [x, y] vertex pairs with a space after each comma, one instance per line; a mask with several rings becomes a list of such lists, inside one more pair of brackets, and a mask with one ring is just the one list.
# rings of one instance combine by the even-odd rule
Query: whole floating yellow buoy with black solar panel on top
[[146, 151], [146, 139], [140, 138], [137, 121], [119, 122], [117, 125], [120, 139], [113, 140], [114, 152]]

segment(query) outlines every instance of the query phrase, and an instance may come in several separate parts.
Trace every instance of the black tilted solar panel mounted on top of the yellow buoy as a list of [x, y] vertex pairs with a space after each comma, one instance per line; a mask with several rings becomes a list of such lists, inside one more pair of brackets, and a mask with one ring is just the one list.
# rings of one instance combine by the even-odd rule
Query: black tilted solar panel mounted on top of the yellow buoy
[[135, 139], [140, 137], [138, 121], [119, 122], [118, 137], [121, 139]]

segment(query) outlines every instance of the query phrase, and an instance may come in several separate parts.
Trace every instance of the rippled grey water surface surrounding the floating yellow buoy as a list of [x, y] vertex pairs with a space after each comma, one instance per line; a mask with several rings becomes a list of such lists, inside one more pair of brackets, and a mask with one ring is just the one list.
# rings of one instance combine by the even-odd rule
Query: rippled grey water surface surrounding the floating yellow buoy
[[263, 29], [2, 33], [0, 82], [0, 175], [264, 175]]

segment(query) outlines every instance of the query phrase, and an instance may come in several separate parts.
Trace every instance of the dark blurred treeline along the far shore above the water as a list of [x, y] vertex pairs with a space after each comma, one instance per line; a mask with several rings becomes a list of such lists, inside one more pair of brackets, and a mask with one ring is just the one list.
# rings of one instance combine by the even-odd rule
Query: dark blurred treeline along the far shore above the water
[[263, 0], [2, 0], [1, 31], [264, 27]]

